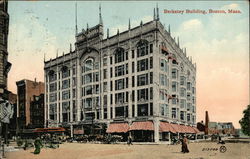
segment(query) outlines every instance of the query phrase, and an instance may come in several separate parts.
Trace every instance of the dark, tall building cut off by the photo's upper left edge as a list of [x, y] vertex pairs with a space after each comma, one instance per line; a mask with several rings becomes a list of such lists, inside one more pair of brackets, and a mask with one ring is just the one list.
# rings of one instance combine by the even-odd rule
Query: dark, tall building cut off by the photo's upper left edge
[[11, 63], [8, 62], [9, 14], [8, 1], [0, 0], [0, 98], [8, 98], [7, 78]]

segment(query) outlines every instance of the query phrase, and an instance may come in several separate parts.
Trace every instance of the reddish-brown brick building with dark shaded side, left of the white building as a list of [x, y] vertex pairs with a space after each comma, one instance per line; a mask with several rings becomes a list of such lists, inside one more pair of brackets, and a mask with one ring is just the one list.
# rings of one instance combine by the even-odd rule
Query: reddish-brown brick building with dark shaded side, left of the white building
[[17, 85], [17, 117], [18, 128], [24, 129], [31, 125], [30, 105], [35, 96], [44, 94], [44, 83], [27, 79], [16, 82]]

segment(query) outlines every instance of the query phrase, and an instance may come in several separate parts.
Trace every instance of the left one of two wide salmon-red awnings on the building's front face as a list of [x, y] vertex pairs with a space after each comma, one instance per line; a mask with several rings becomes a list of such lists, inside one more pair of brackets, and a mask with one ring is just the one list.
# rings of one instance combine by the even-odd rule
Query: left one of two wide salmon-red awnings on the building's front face
[[128, 123], [111, 123], [107, 129], [107, 133], [126, 133], [129, 131]]

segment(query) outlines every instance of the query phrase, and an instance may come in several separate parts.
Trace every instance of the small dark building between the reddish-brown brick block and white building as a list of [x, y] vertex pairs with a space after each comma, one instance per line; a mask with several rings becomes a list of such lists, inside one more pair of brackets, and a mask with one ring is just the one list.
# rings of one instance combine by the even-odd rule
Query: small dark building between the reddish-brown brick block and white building
[[34, 128], [44, 127], [44, 94], [33, 96], [30, 103], [30, 124]]

